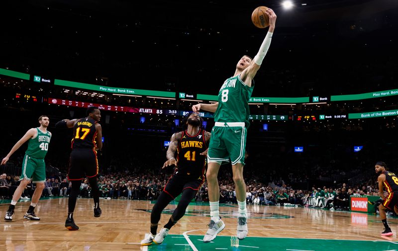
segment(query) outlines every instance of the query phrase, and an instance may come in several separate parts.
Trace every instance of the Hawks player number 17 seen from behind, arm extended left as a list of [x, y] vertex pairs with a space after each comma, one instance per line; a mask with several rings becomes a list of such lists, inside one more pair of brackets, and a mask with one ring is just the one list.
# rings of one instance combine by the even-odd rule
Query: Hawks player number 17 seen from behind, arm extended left
[[101, 216], [100, 190], [97, 185], [98, 160], [97, 151], [102, 148], [102, 129], [98, 123], [101, 112], [98, 107], [90, 106], [86, 112], [87, 117], [81, 119], [64, 119], [56, 127], [73, 127], [72, 152], [69, 163], [68, 179], [72, 182], [72, 191], [68, 199], [68, 218], [65, 227], [68, 230], [79, 230], [73, 219], [76, 198], [80, 192], [82, 179], [86, 175], [91, 186], [94, 198], [94, 216]]

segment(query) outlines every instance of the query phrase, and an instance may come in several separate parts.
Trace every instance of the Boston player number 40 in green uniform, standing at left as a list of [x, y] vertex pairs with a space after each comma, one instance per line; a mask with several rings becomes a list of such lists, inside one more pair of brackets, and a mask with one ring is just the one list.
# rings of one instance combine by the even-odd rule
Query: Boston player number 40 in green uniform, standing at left
[[21, 194], [25, 187], [29, 184], [29, 181], [36, 183], [36, 189], [32, 196], [32, 202], [30, 203], [29, 209], [23, 218], [27, 220], [39, 221], [40, 218], [34, 213], [34, 208], [40, 199], [41, 193], [44, 189], [44, 181], [46, 181], [46, 164], [44, 163], [44, 157], [48, 151], [48, 144], [50, 143], [51, 133], [47, 131], [50, 120], [48, 116], [42, 115], [39, 117], [40, 127], [29, 129], [25, 135], [12, 147], [11, 151], [1, 161], [1, 165], [5, 165], [11, 155], [28, 141], [28, 149], [25, 152], [22, 162], [22, 174], [20, 176], [20, 183], [16, 188], [14, 195], [12, 195], [11, 204], [5, 213], [4, 220], [12, 221], [12, 215], [16, 202], [21, 197]]

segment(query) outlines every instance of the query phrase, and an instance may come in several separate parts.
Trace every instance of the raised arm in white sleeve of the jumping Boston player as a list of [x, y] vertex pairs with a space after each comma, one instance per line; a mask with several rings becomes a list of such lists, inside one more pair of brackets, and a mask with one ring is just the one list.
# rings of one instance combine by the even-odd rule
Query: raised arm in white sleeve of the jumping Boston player
[[277, 15], [270, 8], [266, 10], [266, 14], [270, 19], [270, 27], [268, 28], [268, 33], [265, 36], [265, 39], [260, 46], [260, 50], [258, 51], [257, 55], [254, 57], [251, 65], [248, 68], [246, 68], [240, 75], [241, 80], [249, 86], [251, 86], [251, 81], [256, 75], [257, 71], [260, 69], [264, 57], [267, 54], [268, 49], [270, 48], [272, 34], [274, 33], [275, 30], [275, 22], [277, 19]]

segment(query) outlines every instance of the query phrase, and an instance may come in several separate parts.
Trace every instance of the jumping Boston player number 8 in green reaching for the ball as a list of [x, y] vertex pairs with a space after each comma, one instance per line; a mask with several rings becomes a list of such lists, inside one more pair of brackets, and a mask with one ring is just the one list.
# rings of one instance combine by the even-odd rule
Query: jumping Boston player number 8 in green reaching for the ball
[[218, 102], [214, 104], [199, 103], [192, 107], [194, 112], [205, 110], [215, 112], [214, 127], [211, 132], [207, 153], [207, 184], [210, 201], [210, 223], [203, 238], [204, 243], [212, 241], [224, 229], [225, 224], [219, 217], [219, 186], [217, 174], [221, 164], [231, 161], [236, 199], [238, 201], [238, 227], [236, 236], [242, 240], [246, 237], [247, 210], [246, 184], [243, 179], [243, 166], [246, 147], [247, 127], [249, 126], [249, 98], [252, 94], [253, 78], [260, 69], [261, 63], [271, 44], [277, 16], [272, 9], [266, 10], [270, 18], [268, 33], [259, 52], [252, 60], [243, 56], [236, 65], [235, 74], [222, 84], [218, 93]]

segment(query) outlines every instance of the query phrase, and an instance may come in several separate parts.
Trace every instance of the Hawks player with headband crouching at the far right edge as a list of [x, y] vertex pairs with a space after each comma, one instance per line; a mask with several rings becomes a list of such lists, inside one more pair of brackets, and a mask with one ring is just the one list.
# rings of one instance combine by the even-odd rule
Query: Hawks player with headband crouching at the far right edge
[[[385, 230], [381, 235], [392, 236], [393, 232], [387, 223], [386, 209], [393, 210], [394, 207], [394, 211], [398, 214], [398, 177], [393, 172], [387, 171], [386, 167], [386, 163], [378, 162], [375, 165], [375, 171], [379, 174], [377, 182], [379, 183], [380, 197], [383, 199], [382, 204], [379, 205], [379, 212]], [[388, 192], [387, 196], [384, 196], [383, 187], [385, 187]]]

